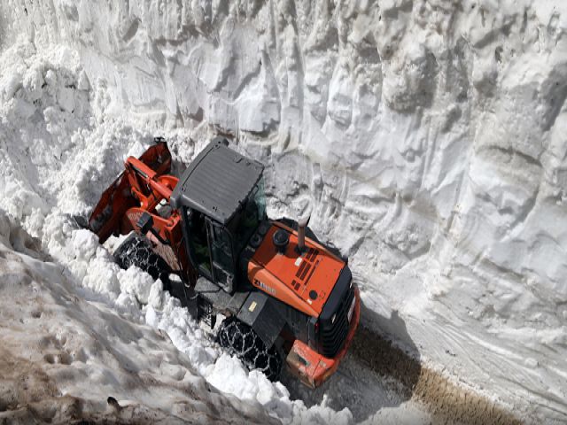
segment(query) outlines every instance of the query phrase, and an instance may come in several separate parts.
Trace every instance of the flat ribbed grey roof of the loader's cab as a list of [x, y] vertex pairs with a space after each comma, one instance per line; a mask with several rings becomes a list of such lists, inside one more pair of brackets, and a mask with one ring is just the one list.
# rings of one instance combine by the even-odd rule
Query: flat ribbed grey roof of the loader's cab
[[259, 182], [264, 166], [216, 138], [185, 170], [174, 189], [174, 208], [189, 207], [227, 224]]

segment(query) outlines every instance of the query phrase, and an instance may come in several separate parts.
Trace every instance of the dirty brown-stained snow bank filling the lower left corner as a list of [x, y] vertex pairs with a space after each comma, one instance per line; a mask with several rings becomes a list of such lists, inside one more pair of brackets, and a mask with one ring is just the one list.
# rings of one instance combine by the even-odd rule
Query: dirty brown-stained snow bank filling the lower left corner
[[166, 334], [85, 301], [1, 210], [0, 223], [1, 420], [277, 423], [214, 390]]

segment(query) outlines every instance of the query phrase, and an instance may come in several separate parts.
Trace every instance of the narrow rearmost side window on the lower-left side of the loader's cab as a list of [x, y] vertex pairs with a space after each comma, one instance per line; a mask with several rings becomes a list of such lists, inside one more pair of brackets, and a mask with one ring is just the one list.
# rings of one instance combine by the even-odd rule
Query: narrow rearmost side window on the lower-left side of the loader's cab
[[226, 292], [232, 293], [236, 286], [232, 238], [226, 228], [212, 220], [207, 220], [207, 228], [214, 282]]

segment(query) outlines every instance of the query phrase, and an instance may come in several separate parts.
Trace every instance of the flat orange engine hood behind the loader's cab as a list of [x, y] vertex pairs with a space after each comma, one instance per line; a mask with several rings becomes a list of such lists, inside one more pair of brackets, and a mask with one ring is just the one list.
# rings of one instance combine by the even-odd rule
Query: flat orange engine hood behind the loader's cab
[[[276, 251], [272, 243], [278, 228], [290, 233], [290, 243], [283, 253]], [[318, 317], [345, 262], [309, 238], [301, 255], [296, 251], [297, 245], [297, 232], [274, 222], [248, 265], [248, 278], [268, 295]]]

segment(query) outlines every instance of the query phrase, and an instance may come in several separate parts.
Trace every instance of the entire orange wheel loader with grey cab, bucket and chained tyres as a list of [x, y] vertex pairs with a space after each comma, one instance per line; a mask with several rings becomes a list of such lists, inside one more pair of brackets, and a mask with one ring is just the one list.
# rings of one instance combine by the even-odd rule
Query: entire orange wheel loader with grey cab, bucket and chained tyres
[[[217, 340], [246, 367], [276, 379], [283, 360], [315, 388], [338, 367], [360, 317], [345, 259], [317, 241], [307, 220], [270, 220], [259, 162], [216, 139], [182, 177], [169, 175], [163, 139], [128, 158], [89, 218], [114, 252], [161, 278], [191, 314], [218, 328]], [[215, 321], [224, 320], [218, 327]]]

